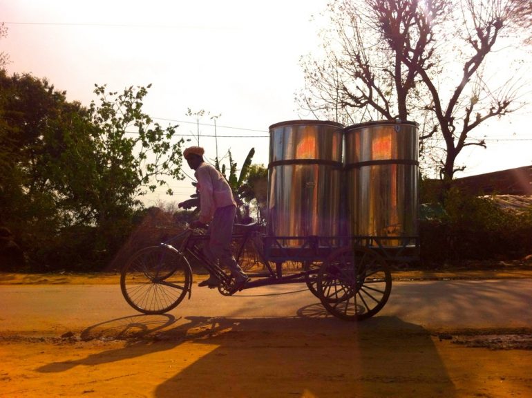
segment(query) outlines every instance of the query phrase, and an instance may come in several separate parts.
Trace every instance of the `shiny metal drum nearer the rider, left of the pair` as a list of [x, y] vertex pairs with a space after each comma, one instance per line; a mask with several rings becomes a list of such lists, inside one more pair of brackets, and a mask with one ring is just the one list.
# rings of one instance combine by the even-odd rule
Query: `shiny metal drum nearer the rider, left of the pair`
[[339, 234], [343, 125], [295, 120], [269, 126], [269, 236], [300, 247], [308, 236]]

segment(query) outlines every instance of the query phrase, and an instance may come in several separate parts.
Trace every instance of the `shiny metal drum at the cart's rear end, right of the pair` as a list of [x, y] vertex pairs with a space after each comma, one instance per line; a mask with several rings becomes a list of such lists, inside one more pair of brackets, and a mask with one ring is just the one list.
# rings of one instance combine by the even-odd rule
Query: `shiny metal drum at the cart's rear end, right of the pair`
[[415, 245], [418, 134], [415, 122], [367, 122], [345, 128], [350, 231], [390, 237], [380, 245]]

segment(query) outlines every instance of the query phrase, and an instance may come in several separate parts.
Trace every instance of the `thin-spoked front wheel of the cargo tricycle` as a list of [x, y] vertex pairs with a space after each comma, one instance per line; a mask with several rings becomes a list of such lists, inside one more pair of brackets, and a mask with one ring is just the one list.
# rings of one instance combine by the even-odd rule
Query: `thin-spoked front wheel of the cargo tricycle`
[[163, 314], [175, 308], [191, 290], [192, 273], [182, 254], [164, 246], [139, 250], [120, 275], [127, 303], [144, 314]]

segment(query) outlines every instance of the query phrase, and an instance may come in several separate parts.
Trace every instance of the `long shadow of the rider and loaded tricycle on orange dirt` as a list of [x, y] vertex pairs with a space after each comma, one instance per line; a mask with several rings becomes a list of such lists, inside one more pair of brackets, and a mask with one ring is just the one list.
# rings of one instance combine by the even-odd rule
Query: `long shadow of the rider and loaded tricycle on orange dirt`
[[128, 316], [92, 325], [81, 337], [126, 344], [37, 371], [167, 352], [168, 364], [183, 357], [189, 362], [156, 386], [155, 397], [383, 397], [398, 388], [412, 389], [412, 396], [456, 395], [427, 330], [395, 316], [344, 322], [319, 303], [294, 317]]

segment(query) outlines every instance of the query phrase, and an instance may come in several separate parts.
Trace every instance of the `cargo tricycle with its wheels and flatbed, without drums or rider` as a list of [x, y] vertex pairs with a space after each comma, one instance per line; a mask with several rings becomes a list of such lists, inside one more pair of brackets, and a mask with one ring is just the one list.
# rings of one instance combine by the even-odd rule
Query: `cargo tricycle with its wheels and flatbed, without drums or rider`
[[[330, 314], [348, 321], [361, 321], [377, 314], [388, 301], [392, 278], [388, 263], [406, 262], [419, 252], [417, 237], [390, 236], [265, 236], [256, 223], [236, 224], [232, 241], [240, 263], [245, 248], [254, 247], [263, 272], [251, 278], [240, 290], [267, 285], [306, 283]], [[162, 314], [176, 307], [185, 296], [191, 298], [194, 258], [216, 275], [218, 291], [236, 294], [231, 274], [203, 254], [207, 243], [204, 231], [187, 229], [156, 246], [139, 250], [124, 265], [120, 287], [126, 301], [139, 312]], [[390, 240], [404, 245], [388, 246]], [[301, 245], [286, 247], [287, 241]], [[406, 243], [415, 242], [415, 245]], [[301, 263], [301, 271], [285, 273], [287, 261]], [[274, 266], [272, 266], [274, 265]]]

